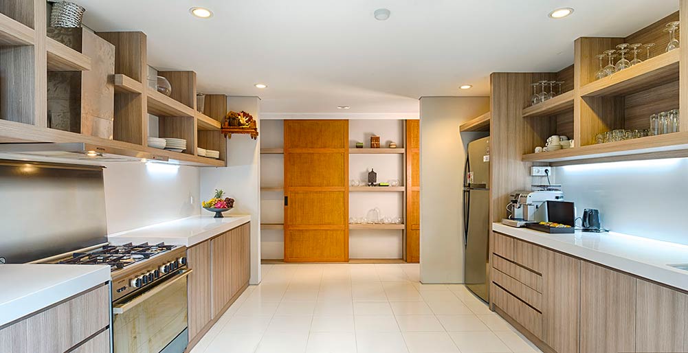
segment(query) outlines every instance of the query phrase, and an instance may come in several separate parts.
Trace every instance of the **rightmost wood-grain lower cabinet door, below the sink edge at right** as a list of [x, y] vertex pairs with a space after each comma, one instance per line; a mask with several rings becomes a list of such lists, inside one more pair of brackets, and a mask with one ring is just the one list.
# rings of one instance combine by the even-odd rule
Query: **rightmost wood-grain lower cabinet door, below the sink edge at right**
[[637, 281], [636, 352], [686, 352], [688, 295]]

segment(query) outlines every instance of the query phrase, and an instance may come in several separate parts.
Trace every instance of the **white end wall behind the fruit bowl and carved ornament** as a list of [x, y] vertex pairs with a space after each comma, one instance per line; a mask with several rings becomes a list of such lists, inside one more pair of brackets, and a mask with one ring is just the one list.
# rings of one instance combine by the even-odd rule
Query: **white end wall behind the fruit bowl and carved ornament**
[[[260, 126], [260, 98], [228, 97], [227, 109], [247, 111]], [[260, 272], [260, 150], [259, 140], [248, 135], [233, 135], [227, 140], [227, 167], [201, 170], [201, 195], [210, 197], [222, 189], [235, 199], [231, 213], [251, 215], [251, 278], [250, 284], [261, 281]]]

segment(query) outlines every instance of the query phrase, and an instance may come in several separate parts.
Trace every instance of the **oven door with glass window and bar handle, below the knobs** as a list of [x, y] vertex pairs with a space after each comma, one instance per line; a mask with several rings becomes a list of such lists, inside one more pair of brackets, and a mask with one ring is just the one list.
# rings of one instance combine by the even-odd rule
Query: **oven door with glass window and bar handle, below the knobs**
[[189, 343], [186, 284], [193, 270], [175, 270], [112, 303], [114, 353], [181, 353]]

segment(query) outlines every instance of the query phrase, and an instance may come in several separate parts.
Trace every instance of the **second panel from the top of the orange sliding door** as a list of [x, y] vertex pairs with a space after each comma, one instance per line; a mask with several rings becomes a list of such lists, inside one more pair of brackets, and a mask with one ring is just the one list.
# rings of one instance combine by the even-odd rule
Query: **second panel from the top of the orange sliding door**
[[285, 163], [290, 187], [345, 186], [345, 153], [289, 153]]

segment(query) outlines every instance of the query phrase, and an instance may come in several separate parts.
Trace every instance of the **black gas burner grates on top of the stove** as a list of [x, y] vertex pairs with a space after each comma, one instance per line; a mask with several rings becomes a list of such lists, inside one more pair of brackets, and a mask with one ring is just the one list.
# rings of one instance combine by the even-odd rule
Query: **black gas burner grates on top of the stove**
[[175, 247], [164, 243], [155, 245], [143, 243], [136, 246], [131, 243], [120, 246], [105, 245], [88, 253], [74, 253], [71, 259], [59, 261], [58, 264], [109, 265], [111, 270], [118, 270]]

